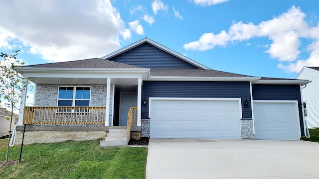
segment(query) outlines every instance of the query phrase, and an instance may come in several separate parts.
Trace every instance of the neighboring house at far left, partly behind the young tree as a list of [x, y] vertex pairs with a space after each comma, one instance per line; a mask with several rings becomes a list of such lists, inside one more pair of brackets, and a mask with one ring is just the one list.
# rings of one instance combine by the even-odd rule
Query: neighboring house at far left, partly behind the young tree
[[[9, 135], [9, 127], [10, 127], [10, 116], [11, 112], [0, 107], [0, 137]], [[13, 131], [15, 123], [17, 123], [18, 115], [13, 115], [11, 131]]]

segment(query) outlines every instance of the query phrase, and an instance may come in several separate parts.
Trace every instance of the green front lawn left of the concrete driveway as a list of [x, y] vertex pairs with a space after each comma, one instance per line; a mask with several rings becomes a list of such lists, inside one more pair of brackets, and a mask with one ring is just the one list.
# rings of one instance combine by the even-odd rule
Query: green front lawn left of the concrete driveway
[[[0, 150], [0, 161], [6, 149]], [[10, 160], [20, 147], [11, 147]], [[101, 148], [99, 140], [23, 146], [21, 163], [0, 167], [0, 179], [145, 179], [147, 148]]]

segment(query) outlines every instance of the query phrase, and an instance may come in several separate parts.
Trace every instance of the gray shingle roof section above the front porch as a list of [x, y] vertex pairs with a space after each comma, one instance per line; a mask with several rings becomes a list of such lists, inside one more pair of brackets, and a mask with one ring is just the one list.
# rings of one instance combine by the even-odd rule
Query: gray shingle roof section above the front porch
[[35, 68], [141, 68], [133, 65], [113, 62], [109, 60], [103, 60], [100, 58], [68, 61], [68, 62], [57, 62], [57, 63], [46, 63], [39, 65], [27, 65], [24, 67], [35, 67]]

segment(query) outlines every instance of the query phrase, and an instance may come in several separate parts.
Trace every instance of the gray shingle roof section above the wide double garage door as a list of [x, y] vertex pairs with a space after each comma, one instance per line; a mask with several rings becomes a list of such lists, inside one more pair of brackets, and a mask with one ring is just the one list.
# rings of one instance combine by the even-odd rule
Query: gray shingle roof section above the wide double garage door
[[173, 77], [251, 77], [217, 70], [184, 68], [151, 68], [151, 76]]

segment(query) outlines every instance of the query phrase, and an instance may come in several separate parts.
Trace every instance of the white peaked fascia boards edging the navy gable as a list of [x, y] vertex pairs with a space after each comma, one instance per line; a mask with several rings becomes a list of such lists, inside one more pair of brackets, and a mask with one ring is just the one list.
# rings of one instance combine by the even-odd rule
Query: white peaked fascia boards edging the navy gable
[[142, 44], [144, 42], [148, 42], [148, 43], [158, 47], [159, 49], [161, 49], [161, 50], [163, 50], [163, 51], [165, 51], [165, 52], [167, 52], [167, 53], [169, 53], [169, 54], [171, 54], [171, 55], [173, 55], [173, 56], [175, 56], [175, 57], [177, 57], [177, 58], [179, 58], [179, 59], [181, 59], [181, 60], [183, 60], [185, 62], [188, 62], [188, 63], [190, 63], [190, 64], [192, 64], [192, 65], [194, 65], [196, 67], [200, 67], [200, 68], [203, 68], [205, 70], [212, 70], [211, 68], [206, 67], [206, 66], [204, 66], [204, 65], [202, 65], [202, 64], [200, 64], [200, 63], [198, 63], [198, 62], [196, 62], [196, 61], [194, 61], [194, 60], [192, 60], [192, 59], [190, 59], [190, 58], [188, 58], [188, 57], [186, 57], [184, 55], [181, 55], [181, 54], [179, 54], [179, 53], [177, 53], [177, 52], [175, 52], [175, 51], [173, 51], [173, 50], [171, 50], [171, 49], [169, 49], [169, 48], [167, 48], [167, 47], [165, 47], [165, 46], [163, 46], [163, 45], [161, 45], [161, 44], [159, 44], [159, 43], [157, 43], [157, 42], [155, 42], [155, 41], [153, 41], [153, 40], [151, 40], [149, 38], [143, 38], [143, 39], [141, 39], [141, 40], [139, 40], [139, 41], [137, 41], [135, 43], [132, 43], [131, 45], [128, 45], [128, 46], [126, 46], [124, 48], [121, 48], [121, 49], [119, 49], [119, 50], [117, 50], [115, 52], [112, 52], [112, 53], [110, 53], [110, 54], [108, 54], [108, 55], [106, 55], [104, 57], [101, 57], [101, 59], [107, 60], [107, 59], [112, 58], [112, 57], [114, 57], [116, 55], [120, 55], [120, 54], [122, 54], [122, 53], [124, 53], [124, 52], [126, 52], [126, 51], [128, 51], [128, 50], [130, 50], [130, 49], [132, 49], [134, 47], [136, 47], [136, 46], [139, 46], [140, 44]]

